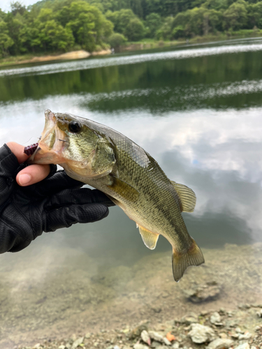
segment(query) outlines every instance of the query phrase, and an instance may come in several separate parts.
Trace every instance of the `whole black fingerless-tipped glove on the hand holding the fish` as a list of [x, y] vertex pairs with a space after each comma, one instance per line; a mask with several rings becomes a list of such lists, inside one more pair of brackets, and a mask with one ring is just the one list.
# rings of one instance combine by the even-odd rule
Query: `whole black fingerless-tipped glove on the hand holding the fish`
[[43, 231], [99, 221], [115, 205], [101, 191], [80, 189], [82, 182], [55, 165], [43, 181], [19, 186], [15, 177], [25, 166], [6, 144], [0, 148], [0, 253], [21, 251]]

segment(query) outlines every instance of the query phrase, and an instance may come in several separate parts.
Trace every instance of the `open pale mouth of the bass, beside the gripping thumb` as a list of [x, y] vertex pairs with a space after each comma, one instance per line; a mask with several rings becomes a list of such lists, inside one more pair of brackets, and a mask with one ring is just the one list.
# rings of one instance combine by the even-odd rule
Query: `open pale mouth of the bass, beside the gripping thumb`
[[45, 110], [45, 127], [41, 140], [28, 163], [59, 164], [64, 162], [63, 150], [68, 146], [69, 140], [66, 133], [57, 126], [57, 117], [51, 110]]

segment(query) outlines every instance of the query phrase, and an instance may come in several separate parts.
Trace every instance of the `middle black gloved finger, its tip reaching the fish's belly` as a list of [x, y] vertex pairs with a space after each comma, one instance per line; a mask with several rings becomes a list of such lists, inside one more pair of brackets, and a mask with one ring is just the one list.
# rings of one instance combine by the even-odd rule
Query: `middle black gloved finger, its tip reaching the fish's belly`
[[91, 203], [101, 203], [105, 206], [113, 206], [115, 204], [101, 191], [89, 188], [65, 189], [52, 195], [50, 200], [45, 204], [45, 210], [50, 211], [68, 205], [85, 205]]

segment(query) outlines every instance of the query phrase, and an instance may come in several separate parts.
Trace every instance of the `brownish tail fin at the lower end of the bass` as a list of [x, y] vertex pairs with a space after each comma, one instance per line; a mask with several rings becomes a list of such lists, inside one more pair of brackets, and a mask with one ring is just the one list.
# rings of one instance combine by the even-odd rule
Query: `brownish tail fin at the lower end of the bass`
[[191, 247], [189, 248], [189, 251], [187, 251], [187, 253], [177, 253], [173, 248], [172, 267], [175, 281], [180, 281], [184, 274], [184, 271], [190, 265], [201, 265], [204, 262], [205, 260], [203, 253], [194, 239], [192, 239]]

